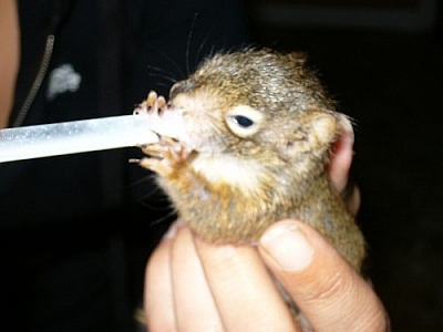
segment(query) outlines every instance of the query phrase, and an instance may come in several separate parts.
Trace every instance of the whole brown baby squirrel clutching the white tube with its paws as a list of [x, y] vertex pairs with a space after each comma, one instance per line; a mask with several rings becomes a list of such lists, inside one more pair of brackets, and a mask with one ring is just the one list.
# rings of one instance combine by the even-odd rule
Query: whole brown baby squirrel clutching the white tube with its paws
[[360, 271], [363, 236], [327, 173], [331, 145], [351, 124], [305, 54], [217, 53], [176, 83], [167, 103], [151, 92], [135, 112], [178, 118], [173, 135], [158, 131], [157, 143], [142, 146], [138, 163], [199, 237], [254, 243], [272, 222], [296, 218]]

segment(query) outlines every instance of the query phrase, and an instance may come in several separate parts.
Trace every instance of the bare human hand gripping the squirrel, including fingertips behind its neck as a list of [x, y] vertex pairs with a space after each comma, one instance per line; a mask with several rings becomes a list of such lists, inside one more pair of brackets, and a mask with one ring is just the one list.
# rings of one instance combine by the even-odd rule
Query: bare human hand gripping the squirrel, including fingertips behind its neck
[[[329, 175], [342, 191], [352, 131], [334, 146]], [[360, 193], [348, 196], [357, 214]], [[312, 228], [298, 220], [269, 227], [257, 247], [210, 245], [176, 222], [152, 255], [145, 314], [157, 331], [302, 331], [276, 288], [278, 279], [313, 331], [389, 331], [371, 286]]]

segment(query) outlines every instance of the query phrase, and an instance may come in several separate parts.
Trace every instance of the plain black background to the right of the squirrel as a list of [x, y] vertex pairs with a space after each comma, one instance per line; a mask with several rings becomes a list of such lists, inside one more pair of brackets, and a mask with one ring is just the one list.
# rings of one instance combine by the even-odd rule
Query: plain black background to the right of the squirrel
[[439, 1], [248, 1], [254, 42], [306, 51], [356, 120], [370, 274], [393, 331], [443, 331]]

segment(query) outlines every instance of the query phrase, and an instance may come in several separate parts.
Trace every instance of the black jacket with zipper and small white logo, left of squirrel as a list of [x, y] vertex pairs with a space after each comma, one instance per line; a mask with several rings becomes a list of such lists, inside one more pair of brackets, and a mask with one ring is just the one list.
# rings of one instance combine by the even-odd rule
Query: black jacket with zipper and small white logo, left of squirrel
[[[236, 1], [21, 0], [19, 13], [11, 126], [131, 114], [150, 90], [167, 95], [203, 56], [246, 41]], [[131, 308], [141, 299], [168, 212], [150, 174], [127, 163], [140, 154], [0, 165], [4, 331], [130, 331], [116, 322], [122, 295]]]

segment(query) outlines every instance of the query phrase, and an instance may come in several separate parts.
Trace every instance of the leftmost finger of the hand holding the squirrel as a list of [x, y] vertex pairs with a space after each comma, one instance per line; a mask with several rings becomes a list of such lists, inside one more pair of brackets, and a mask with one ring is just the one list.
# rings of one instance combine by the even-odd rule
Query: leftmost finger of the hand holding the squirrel
[[147, 330], [176, 331], [171, 278], [172, 239], [164, 239], [152, 253], [145, 272], [144, 309]]

